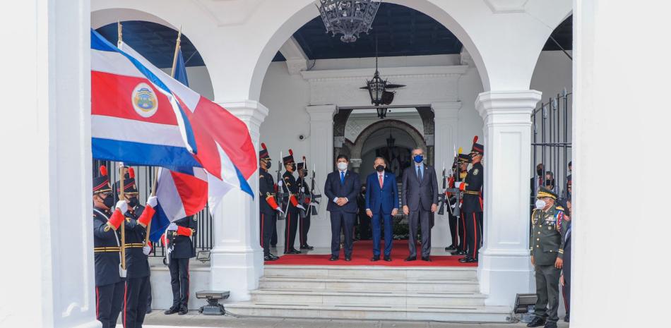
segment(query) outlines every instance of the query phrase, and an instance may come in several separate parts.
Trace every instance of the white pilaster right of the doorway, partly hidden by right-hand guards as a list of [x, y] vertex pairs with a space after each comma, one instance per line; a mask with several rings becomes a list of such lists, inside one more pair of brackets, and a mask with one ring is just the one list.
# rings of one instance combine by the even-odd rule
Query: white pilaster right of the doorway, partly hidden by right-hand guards
[[[461, 102], [434, 102], [431, 104], [434, 111], [434, 167], [438, 175], [438, 188], [443, 188], [443, 165], [450, 169], [456, 145], [458, 131], [458, 117]], [[431, 229], [431, 245], [434, 248], [444, 248], [452, 243], [450, 233], [449, 209], [445, 207], [445, 214], [436, 214], [434, 228]]]

